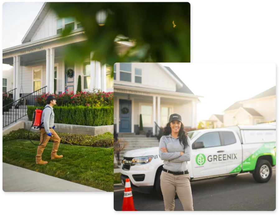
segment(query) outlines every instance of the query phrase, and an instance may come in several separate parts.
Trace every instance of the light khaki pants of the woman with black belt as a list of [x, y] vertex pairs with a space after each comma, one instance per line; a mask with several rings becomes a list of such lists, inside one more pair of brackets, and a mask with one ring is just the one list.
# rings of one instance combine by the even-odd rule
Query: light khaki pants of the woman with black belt
[[183, 205], [184, 211], [194, 211], [189, 174], [173, 175], [162, 171], [160, 179], [161, 192], [166, 211], [174, 211], [176, 192]]

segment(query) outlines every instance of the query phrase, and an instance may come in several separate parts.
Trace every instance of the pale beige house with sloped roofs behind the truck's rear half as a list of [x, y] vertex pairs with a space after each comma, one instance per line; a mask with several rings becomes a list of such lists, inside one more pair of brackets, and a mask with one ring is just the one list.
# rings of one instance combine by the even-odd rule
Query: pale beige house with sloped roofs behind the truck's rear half
[[256, 125], [275, 120], [276, 86], [250, 99], [237, 101], [224, 111], [224, 126]]

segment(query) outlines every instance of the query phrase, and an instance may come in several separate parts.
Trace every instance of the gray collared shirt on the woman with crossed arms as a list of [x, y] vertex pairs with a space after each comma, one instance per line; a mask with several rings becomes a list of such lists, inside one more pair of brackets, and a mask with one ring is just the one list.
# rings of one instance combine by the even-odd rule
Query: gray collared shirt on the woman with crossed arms
[[[185, 171], [188, 169], [187, 161], [191, 160], [192, 147], [190, 139], [187, 139], [188, 146], [186, 149], [180, 144], [179, 136], [175, 139], [173, 136], [162, 136], [159, 144], [159, 156], [163, 160], [163, 168], [170, 171]], [[165, 147], [168, 152], [162, 152], [161, 147]], [[181, 155], [180, 152], [185, 154]]]

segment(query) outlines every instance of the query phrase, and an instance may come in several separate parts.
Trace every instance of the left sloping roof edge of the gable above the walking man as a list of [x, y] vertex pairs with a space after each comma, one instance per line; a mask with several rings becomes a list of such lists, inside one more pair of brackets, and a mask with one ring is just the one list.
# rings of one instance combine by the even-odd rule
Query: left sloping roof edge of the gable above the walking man
[[23, 39], [21, 40], [22, 44], [25, 44], [27, 42], [31, 41], [31, 38], [35, 34], [36, 30], [39, 28], [41, 25], [42, 21], [44, 20], [45, 16], [49, 12], [49, 2], [45, 2], [44, 5], [42, 6], [41, 10], [37, 14], [35, 20], [27, 30], [26, 34], [24, 35]]

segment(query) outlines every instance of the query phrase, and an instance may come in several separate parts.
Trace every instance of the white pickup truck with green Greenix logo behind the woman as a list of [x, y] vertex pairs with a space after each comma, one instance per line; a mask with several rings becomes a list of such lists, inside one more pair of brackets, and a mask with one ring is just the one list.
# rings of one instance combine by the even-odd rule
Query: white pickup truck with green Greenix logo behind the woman
[[[203, 129], [188, 132], [192, 158], [191, 181], [237, 176], [250, 172], [257, 182], [268, 182], [276, 165], [276, 126], [253, 125]], [[160, 174], [163, 160], [159, 147], [128, 151], [122, 159], [121, 180], [129, 178], [133, 191], [162, 198]], [[178, 198], [177, 194], [175, 198]]]

